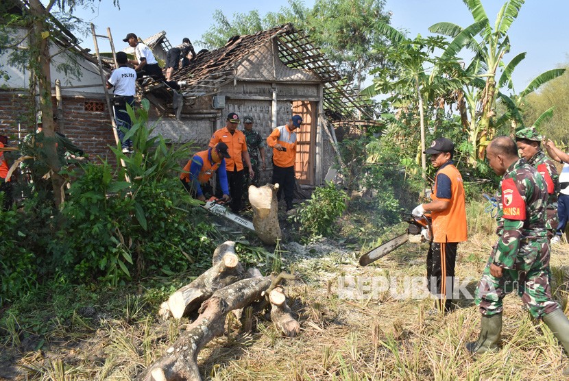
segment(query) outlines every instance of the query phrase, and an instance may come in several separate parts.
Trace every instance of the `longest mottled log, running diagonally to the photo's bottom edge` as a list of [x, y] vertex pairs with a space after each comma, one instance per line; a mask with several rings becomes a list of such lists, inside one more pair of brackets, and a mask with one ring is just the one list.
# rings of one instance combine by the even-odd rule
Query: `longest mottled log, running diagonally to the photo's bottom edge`
[[239, 280], [221, 288], [199, 309], [200, 315], [180, 333], [167, 353], [150, 365], [139, 380], [151, 381], [153, 374], [165, 380], [200, 381], [197, 354], [211, 339], [223, 334], [228, 312], [250, 305], [271, 285], [271, 278]]

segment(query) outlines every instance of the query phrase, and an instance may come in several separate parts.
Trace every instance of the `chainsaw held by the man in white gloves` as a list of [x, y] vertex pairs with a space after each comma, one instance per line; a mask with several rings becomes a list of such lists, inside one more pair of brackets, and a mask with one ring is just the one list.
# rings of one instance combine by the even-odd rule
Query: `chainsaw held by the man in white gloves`
[[360, 257], [360, 265], [367, 266], [370, 263], [386, 256], [405, 243], [422, 243], [433, 241], [433, 228], [431, 226], [431, 214], [423, 214], [414, 217], [412, 214], [403, 214], [403, 221], [409, 223], [409, 227], [400, 236], [397, 236], [378, 247], [374, 247]]

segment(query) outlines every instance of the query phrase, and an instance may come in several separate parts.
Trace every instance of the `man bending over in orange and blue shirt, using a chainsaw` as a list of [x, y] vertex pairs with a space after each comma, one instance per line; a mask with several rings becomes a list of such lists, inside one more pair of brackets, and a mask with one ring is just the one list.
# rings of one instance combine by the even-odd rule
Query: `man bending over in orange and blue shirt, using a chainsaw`
[[213, 188], [209, 180], [213, 173], [219, 173], [223, 200], [229, 199], [227, 183], [226, 159], [231, 158], [226, 143], [220, 142], [213, 148], [196, 153], [184, 167], [180, 180], [184, 188], [191, 193], [192, 197], [199, 201], [206, 201], [206, 193], [213, 194]]

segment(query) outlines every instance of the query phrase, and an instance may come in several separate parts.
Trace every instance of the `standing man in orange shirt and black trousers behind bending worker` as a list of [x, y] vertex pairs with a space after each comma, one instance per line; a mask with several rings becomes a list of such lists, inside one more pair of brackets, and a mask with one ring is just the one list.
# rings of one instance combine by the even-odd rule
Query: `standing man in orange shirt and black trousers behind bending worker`
[[[239, 214], [241, 210], [241, 199], [243, 198], [243, 162], [245, 166], [249, 169], [250, 177], [254, 176], [253, 169], [251, 167], [251, 160], [249, 158], [249, 152], [247, 151], [247, 142], [245, 141], [245, 135], [243, 132], [237, 130], [237, 125], [239, 125], [239, 115], [234, 112], [230, 112], [226, 119], [226, 126], [217, 130], [211, 136], [209, 146], [215, 147], [217, 143], [226, 143], [229, 149], [230, 158], [226, 160], [226, 171], [229, 184], [229, 192], [231, 195], [231, 210]], [[219, 172], [217, 173], [217, 185], [215, 188], [216, 197], [221, 197], [221, 189], [219, 187]]]

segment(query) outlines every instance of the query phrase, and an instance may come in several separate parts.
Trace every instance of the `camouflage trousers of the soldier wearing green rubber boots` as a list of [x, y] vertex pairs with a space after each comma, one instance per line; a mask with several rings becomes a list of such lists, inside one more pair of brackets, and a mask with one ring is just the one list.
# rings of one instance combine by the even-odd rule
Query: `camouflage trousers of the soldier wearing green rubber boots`
[[490, 264], [493, 262], [494, 254], [490, 256], [476, 288], [474, 302], [482, 315], [492, 316], [502, 312], [502, 300], [512, 292], [518, 293], [535, 319], [559, 308], [559, 304], [551, 299], [549, 245], [545, 237], [538, 241], [523, 240], [516, 258], [516, 269], [504, 269], [502, 278], [490, 274]]

